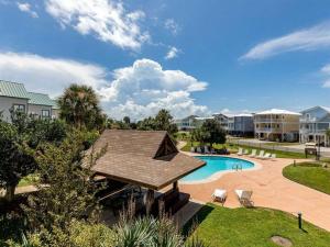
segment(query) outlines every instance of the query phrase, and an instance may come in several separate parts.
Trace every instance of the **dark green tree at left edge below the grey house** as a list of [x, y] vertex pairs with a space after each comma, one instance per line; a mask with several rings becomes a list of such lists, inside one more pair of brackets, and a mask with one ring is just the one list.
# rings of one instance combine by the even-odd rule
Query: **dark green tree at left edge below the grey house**
[[34, 158], [24, 151], [26, 135], [9, 123], [0, 122], [0, 188], [6, 189], [6, 200], [11, 202], [20, 180], [36, 168]]

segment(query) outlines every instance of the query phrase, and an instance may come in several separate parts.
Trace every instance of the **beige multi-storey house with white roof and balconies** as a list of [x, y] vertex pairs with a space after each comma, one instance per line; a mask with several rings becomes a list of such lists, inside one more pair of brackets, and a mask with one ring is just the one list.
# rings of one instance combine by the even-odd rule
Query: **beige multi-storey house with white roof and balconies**
[[255, 113], [255, 138], [273, 142], [296, 142], [299, 137], [299, 117], [300, 113], [279, 109]]

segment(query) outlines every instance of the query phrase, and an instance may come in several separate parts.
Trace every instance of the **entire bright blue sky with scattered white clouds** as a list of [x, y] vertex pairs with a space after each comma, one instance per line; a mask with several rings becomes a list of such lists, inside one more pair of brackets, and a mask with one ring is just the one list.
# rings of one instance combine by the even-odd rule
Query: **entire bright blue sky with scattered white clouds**
[[0, 0], [0, 79], [111, 117], [330, 106], [329, 0]]

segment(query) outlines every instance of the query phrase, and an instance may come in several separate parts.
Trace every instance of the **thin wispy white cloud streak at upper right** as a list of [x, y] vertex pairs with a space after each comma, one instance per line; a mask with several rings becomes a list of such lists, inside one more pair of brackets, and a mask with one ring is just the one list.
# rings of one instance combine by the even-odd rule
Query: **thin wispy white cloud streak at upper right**
[[280, 53], [330, 47], [330, 22], [266, 41], [251, 48], [240, 59], [264, 59]]

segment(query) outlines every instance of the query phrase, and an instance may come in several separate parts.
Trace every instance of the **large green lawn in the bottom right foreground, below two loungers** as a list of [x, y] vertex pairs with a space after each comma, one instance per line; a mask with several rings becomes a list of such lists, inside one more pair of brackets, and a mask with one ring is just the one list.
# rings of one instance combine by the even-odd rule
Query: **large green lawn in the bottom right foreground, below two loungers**
[[[297, 218], [270, 209], [227, 209], [207, 204], [197, 214], [197, 235], [210, 247], [276, 247], [271, 237], [279, 235], [292, 240], [294, 247], [330, 246], [330, 233]], [[185, 229], [191, 226], [190, 221]], [[194, 224], [194, 223], [193, 223]], [[191, 236], [190, 236], [191, 237]]]

